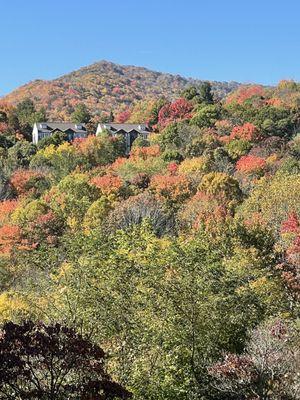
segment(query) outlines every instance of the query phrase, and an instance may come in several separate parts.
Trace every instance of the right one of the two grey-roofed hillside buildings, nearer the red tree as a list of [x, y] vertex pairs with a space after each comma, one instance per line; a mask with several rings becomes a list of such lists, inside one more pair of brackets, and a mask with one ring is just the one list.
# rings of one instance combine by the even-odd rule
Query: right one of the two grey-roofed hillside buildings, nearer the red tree
[[126, 143], [126, 152], [128, 154], [130, 152], [132, 143], [136, 138], [148, 138], [150, 128], [146, 124], [98, 124], [96, 135], [99, 135], [102, 132], [108, 132], [112, 136], [123, 135]]

